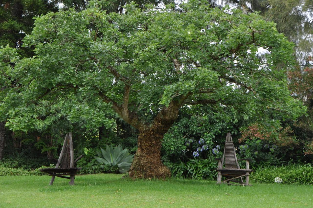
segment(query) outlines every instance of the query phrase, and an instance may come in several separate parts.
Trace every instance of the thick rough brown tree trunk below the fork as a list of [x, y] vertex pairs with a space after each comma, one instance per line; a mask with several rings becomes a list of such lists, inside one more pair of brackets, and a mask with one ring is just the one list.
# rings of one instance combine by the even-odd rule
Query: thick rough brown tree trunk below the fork
[[171, 171], [161, 161], [164, 134], [147, 128], [139, 131], [138, 149], [129, 170], [131, 178], [169, 178]]

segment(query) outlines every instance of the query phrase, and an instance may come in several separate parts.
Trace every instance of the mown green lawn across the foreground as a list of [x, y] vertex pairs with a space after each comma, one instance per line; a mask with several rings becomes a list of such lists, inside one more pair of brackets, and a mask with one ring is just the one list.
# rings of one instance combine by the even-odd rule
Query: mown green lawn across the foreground
[[311, 185], [258, 184], [251, 187], [216, 185], [186, 179], [131, 180], [117, 174], [1, 176], [0, 207], [313, 207]]

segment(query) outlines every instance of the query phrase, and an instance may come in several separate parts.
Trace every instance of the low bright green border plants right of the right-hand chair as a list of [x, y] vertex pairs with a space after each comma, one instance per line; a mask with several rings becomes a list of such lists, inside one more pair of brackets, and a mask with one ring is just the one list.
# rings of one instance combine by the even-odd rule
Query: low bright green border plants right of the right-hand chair
[[283, 184], [313, 184], [313, 167], [311, 164], [293, 164], [281, 167], [267, 167], [252, 174], [252, 179], [259, 183], [275, 183], [275, 178], [282, 179]]

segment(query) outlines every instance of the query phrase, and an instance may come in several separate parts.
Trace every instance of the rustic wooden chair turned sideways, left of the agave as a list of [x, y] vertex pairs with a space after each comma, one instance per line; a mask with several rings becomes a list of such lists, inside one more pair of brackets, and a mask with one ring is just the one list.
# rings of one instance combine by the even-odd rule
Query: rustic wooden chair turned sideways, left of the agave
[[[55, 168], [44, 168], [40, 169], [40, 171], [49, 173], [49, 175], [52, 176], [49, 185], [53, 184], [55, 176], [70, 179], [69, 184], [74, 185], [75, 174], [78, 170], [81, 169], [74, 168], [74, 165], [82, 157], [83, 155], [80, 155], [77, 159], [74, 160], [73, 135], [70, 132], [66, 134], [64, 138], [63, 147]], [[70, 177], [64, 175], [69, 175]]]

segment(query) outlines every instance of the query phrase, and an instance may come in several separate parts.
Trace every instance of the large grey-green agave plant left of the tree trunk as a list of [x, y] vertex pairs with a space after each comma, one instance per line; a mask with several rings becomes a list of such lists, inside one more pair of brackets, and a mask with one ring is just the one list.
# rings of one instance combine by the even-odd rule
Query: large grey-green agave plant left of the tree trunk
[[115, 148], [110, 145], [106, 145], [106, 151], [102, 148], [101, 153], [97, 152], [99, 157], [95, 159], [100, 164], [106, 164], [113, 167], [118, 167], [120, 173], [126, 173], [131, 167], [131, 163], [134, 159], [134, 154], [128, 153], [128, 149], [123, 149], [122, 146], [118, 145]]

